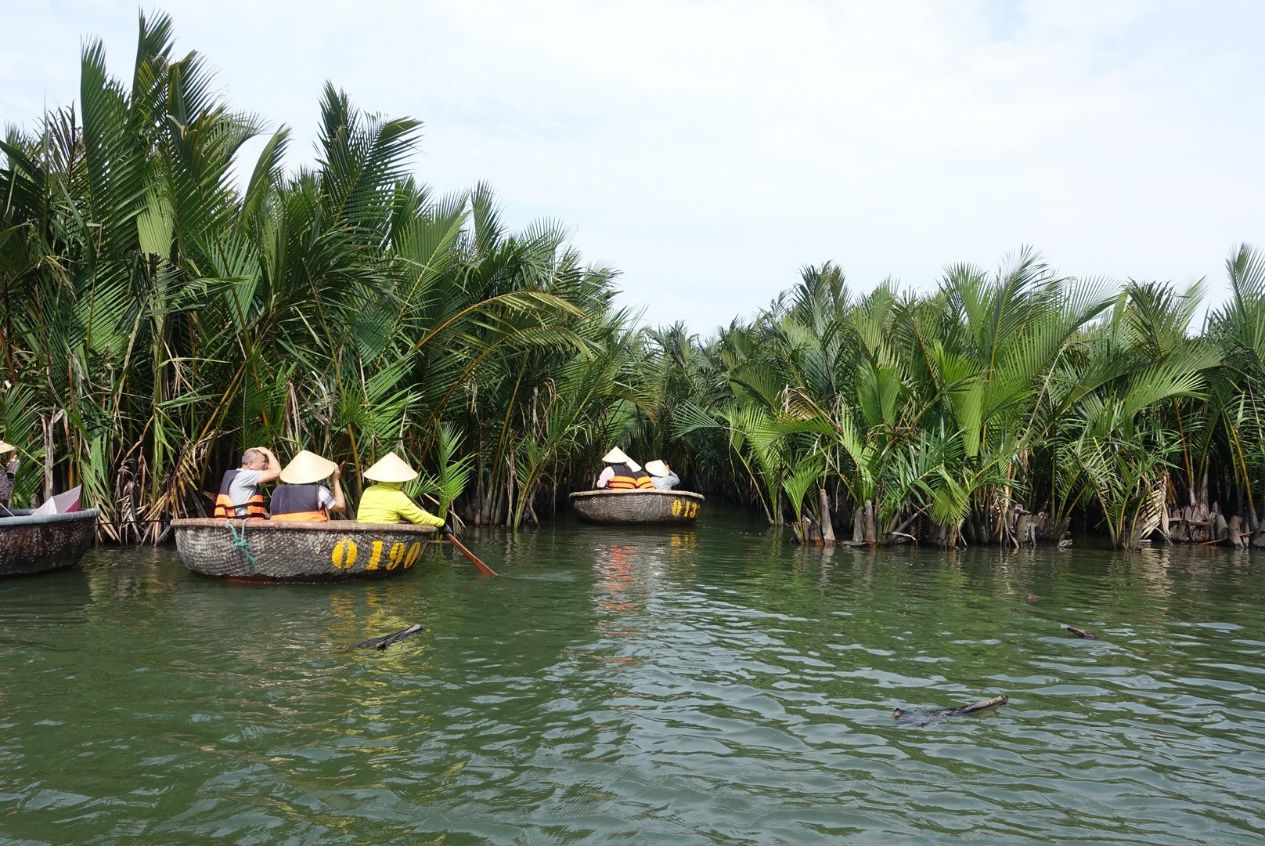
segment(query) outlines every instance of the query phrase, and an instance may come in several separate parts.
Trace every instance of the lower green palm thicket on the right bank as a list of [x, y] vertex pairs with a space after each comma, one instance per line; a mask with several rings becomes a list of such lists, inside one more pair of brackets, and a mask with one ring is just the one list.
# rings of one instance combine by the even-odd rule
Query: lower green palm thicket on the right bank
[[798, 525], [821, 487], [835, 518], [873, 515], [855, 535], [869, 543], [1015, 543], [1015, 513], [1061, 531], [1080, 508], [1136, 545], [1165, 493], [1211, 470], [1227, 498], [1265, 496], [1265, 271], [1247, 248], [1228, 268], [1236, 300], [1202, 338], [1202, 286], [1108, 297], [1028, 250], [994, 274], [953, 266], [920, 296], [884, 283], [854, 298], [834, 266], [806, 268], [749, 324], [676, 357], [660, 402], [696, 475], [775, 524]]

